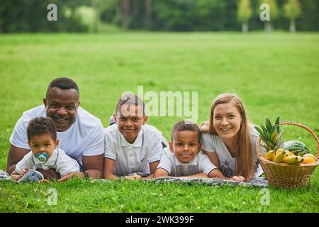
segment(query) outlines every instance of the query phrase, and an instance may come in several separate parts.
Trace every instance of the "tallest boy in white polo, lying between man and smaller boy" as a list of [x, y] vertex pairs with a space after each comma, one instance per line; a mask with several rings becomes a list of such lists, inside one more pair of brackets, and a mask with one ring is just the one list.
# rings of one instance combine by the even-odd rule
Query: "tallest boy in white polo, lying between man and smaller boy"
[[124, 94], [113, 118], [116, 123], [105, 129], [103, 178], [152, 178], [162, 155], [162, 133], [146, 124], [142, 99]]

